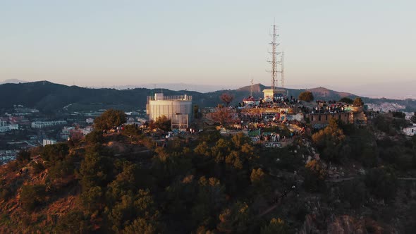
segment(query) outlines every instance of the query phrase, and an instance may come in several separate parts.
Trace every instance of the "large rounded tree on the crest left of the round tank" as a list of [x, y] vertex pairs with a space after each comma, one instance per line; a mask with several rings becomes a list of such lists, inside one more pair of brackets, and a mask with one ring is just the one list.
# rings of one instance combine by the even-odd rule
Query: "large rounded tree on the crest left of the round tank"
[[126, 113], [120, 110], [109, 109], [94, 119], [94, 128], [97, 130], [110, 130], [123, 123], [126, 123]]

